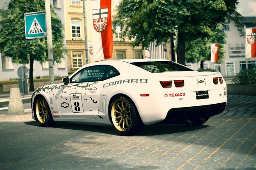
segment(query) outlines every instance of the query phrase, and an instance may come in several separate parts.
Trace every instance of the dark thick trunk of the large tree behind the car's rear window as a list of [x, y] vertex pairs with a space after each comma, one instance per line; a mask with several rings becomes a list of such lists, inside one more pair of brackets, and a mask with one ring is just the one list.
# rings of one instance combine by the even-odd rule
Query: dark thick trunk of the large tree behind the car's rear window
[[185, 32], [178, 30], [177, 62], [186, 65], [185, 62]]

